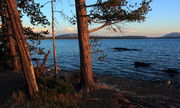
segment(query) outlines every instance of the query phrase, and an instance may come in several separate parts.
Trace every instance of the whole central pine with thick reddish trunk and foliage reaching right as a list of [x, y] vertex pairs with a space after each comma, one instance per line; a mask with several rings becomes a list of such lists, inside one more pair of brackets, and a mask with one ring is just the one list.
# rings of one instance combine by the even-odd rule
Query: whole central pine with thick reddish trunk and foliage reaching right
[[[89, 33], [107, 27], [117, 31], [121, 30], [118, 24], [124, 22], [143, 22], [151, 10], [151, 0], [142, 0], [141, 3], [129, 4], [128, 0], [97, 0], [96, 4], [86, 5], [85, 0], [75, 0], [79, 36], [81, 84], [85, 91], [95, 87], [92, 61], [89, 45]], [[89, 12], [86, 8], [91, 8]], [[87, 14], [88, 13], [88, 14]], [[89, 30], [92, 23], [101, 24]]]

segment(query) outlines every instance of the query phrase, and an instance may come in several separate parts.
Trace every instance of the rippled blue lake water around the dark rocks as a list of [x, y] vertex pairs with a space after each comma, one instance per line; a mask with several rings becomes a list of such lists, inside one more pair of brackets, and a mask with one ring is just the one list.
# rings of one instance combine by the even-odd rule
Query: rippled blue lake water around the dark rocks
[[[79, 69], [78, 40], [56, 40], [56, 43], [58, 65], [65, 70]], [[93, 71], [96, 73], [144, 80], [180, 79], [180, 73], [170, 76], [163, 72], [168, 68], [175, 68], [180, 72], [180, 39], [104, 39], [99, 40], [99, 43], [107, 57], [101, 62], [97, 60], [97, 54], [93, 55]], [[52, 51], [52, 40], [43, 40], [41, 46], [46, 51]], [[116, 51], [114, 47], [142, 51]], [[47, 65], [53, 64], [52, 55], [51, 53]], [[136, 68], [135, 61], [151, 63], [151, 66]]]

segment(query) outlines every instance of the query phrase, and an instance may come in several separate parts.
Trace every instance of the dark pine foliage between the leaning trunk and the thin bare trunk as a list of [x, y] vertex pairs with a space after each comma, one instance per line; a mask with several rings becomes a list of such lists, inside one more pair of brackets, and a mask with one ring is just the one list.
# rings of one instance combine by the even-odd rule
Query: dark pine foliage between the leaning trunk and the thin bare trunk
[[[47, 17], [41, 12], [42, 6], [39, 3], [35, 3], [34, 0], [17, 0], [17, 6], [21, 12], [21, 16], [26, 14], [30, 18], [32, 25], [37, 26], [41, 25], [46, 27], [50, 25]], [[28, 43], [29, 50], [32, 54], [45, 54], [44, 48], [39, 47], [41, 40], [45, 35], [49, 34], [48, 31], [34, 32], [34, 28], [25, 27], [25, 36], [30, 40]]]

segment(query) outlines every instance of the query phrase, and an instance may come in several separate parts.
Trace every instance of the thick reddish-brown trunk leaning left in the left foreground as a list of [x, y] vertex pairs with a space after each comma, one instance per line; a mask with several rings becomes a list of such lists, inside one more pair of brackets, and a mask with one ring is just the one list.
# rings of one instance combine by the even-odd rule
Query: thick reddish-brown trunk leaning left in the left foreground
[[15, 35], [15, 40], [17, 42], [18, 49], [20, 51], [22, 68], [26, 82], [28, 84], [29, 94], [30, 96], [33, 97], [38, 92], [38, 86], [36, 83], [34, 68], [30, 59], [28, 45], [25, 40], [23, 27], [20, 20], [20, 15], [16, 6], [16, 0], [6, 0], [6, 4], [7, 4], [7, 11], [12, 24], [13, 33]]

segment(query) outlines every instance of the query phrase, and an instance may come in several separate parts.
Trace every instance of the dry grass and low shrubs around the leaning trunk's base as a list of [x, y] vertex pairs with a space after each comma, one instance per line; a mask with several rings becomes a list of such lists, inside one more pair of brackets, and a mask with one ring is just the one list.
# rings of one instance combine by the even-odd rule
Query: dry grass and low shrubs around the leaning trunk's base
[[13, 92], [8, 100], [8, 108], [77, 108], [80, 97], [72, 84], [65, 80], [42, 78], [38, 80], [39, 94], [30, 99], [25, 91]]

